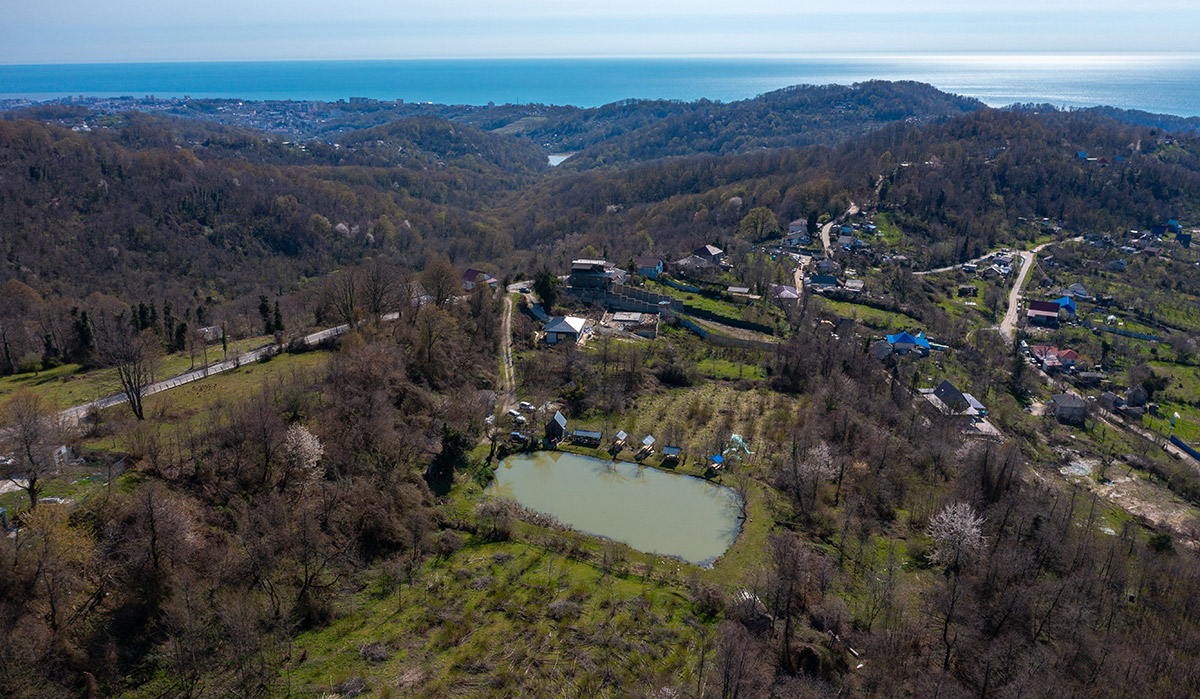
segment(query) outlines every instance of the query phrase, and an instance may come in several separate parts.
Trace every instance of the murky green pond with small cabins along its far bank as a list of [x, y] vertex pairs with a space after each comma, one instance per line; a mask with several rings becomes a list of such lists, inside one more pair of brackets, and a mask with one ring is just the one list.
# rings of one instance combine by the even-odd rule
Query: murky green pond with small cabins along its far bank
[[728, 488], [565, 452], [509, 456], [487, 492], [581, 532], [700, 566], [724, 554], [742, 528], [739, 498]]

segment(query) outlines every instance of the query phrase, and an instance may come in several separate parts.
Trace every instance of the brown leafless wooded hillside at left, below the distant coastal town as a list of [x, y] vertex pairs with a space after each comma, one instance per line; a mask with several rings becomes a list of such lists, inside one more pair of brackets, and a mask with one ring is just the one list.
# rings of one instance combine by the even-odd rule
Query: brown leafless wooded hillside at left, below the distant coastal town
[[427, 154], [442, 145], [383, 167], [359, 165], [382, 160], [371, 154], [187, 136], [142, 118], [88, 135], [0, 121], [5, 276], [60, 293], [232, 298], [371, 255], [415, 263], [511, 250], [481, 220], [508, 186], [498, 165], [491, 174], [438, 166]]

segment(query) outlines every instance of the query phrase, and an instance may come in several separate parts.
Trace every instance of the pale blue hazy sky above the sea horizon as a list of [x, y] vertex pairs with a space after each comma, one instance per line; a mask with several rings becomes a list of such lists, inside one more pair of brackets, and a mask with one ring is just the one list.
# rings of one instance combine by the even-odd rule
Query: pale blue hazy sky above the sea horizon
[[[17, 0], [0, 64], [1193, 52], [1198, 0]], [[848, 8], [842, 8], [850, 6]]]

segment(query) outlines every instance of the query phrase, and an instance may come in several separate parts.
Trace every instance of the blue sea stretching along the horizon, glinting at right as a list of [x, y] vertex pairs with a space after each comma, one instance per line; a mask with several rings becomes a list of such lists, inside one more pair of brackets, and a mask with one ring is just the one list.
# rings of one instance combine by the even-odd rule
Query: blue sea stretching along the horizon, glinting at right
[[919, 80], [977, 97], [1200, 115], [1200, 54], [971, 54], [157, 62], [0, 66], [0, 100], [72, 95], [596, 107], [734, 101], [796, 84]]

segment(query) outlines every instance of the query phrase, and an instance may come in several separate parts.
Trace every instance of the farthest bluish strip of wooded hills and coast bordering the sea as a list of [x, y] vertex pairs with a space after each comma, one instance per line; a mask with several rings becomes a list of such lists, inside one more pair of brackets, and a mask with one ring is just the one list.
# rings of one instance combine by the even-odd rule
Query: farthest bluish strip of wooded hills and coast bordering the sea
[[[415, 136], [415, 141], [434, 145], [433, 131], [448, 127], [433, 125], [449, 120], [499, 137], [514, 137], [538, 147], [544, 154], [584, 151], [571, 161], [574, 169], [611, 168], [698, 153], [750, 153], [761, 148], [836, 143], [896, 121], [925, 123], [983, 107], [977, 100], [949, 95], [930, 85], [888, 82], [850, 86], [796, 85], [734, 102], [623, 100], [593, 108], [377, 101], [310, 104], [187, 100], [160, 103], [150, 97], [122, 98], [119, 103], [130, 110], [146, 110], [184, 120], [256, 124], [274, 132], [277, 138], [314, 142], [310, 148], [347, 143], [347, 138], [360, 141], [355, 133], [359, 131], [371, 131], [366, 138], [388, 141], [389, 144], [394, 139], [398, 139], [397, 145], [403, 145], [406, 139], [412, 143], [410, 137]], [[85, 116], [86, 109], [72, 103], [36, 107], [24, 113], [70, 125]], [[380, 126], [386, 129], [378, 131]], [[422, 133], [418, 135], [418, 131]], [[385, 133], [391, 136], [383, 138]], [[478, 135], [458, 136], [476, 145], [482, 141]], [[496, 148], [497, 141], [482, 147], [484, 150]], [[510, 144], [505, 148], [521, 147]], [[326, 157], [331, 155], [319, 147], [316, 150]], [[372, 154], [389, 162], [395, 160], [396, 150], [385, 150], [376, 149]], [[416, 150], [420, 151], [421, 147], [418, 145]], [[437, 150], [436, 145], [433, 150]], [[340, 153], [335, 160], [346, 156]], [[528, 165], [522, 165], [520, 169], [526, 167]]]

